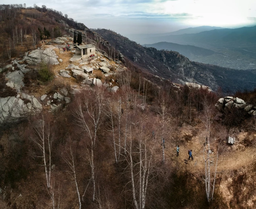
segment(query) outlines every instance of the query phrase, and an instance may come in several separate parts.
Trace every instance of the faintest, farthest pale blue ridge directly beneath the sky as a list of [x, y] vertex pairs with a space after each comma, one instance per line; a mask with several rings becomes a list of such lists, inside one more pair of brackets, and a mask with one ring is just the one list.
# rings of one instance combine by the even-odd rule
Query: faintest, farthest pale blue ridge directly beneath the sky
[[160, 34], [128, 34], [126, 35], [127, 38], [141, 43], [141, 40], [144, 38], [152, 38], [152, 37], [161, 37], [161, 36], [168, 36], [168, 35], [182, 35], [182, 34], [195, 34], [203, 31], [210, 31], [215, 29], [223, 29], [222, 27], [212, 27], [212, 26], [199, 26], [199, 27], [189, 27], [173, 32], [168, 33], [160, 33]]

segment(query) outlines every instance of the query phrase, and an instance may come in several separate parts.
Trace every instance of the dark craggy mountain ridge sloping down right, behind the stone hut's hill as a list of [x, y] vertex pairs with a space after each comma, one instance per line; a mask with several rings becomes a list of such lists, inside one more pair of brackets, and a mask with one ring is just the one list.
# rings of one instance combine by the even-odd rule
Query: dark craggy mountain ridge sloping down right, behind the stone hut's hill
[[[172, 82], [197, 82], [209, 86], [212, 90], [216, 90], [220, 86], [224, 92], [252, 90], [256, 87], [256, 70], [235, 70], [193, 62], [175, 51], [143, 47], [110, 30], [99, 29], [94, 32], [100, 34], [112, 46], [119, 47], [119, 51], [125, 58], [133, 62], [139, 69], [170, 79]], [[172, 43], [164, 44], [172, 45]], [[212, 52], [207, 51], [207, 53]]]

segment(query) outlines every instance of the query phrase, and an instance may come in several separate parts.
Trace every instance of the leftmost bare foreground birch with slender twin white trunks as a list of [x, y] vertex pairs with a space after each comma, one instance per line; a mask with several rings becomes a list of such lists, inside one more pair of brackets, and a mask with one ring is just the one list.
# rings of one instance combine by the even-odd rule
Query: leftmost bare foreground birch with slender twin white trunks
[[[36, 137], [33, 137], [32, 140], [40, 148], [42, 155], [39, 157], [41, 157], [44, 161], [43, 166], [45, 167], [45, 178], [46, 178], [47, 188], [50, 188], [51, 186], [51, 145], [53, 143], [53, 136], [50, 130], [50, 123], [48, 124], [45, 124], [45, 123], [46, 122], [45, 122], [44, 116], [42, 117], [41, 120], [38, 120], [36, 122], [36, 125], [34, 125], [33, 127], [36, 133]], [[46, 162], [47, 162], [46, 146], [48, 146], [49, 165], [46, 165]], [[47, 170], [48, 166], [49, 166], [49, 171]]]

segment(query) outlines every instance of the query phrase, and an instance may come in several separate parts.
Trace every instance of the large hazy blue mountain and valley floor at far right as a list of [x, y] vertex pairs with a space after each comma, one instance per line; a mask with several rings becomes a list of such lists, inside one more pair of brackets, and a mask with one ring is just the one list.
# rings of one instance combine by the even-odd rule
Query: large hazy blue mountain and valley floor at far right
[[[171, 42], [182, 45], [194, 45], [210, 49], [215, 53], [200, 56], [194, 56], [192, 53], [188, 57], [193, 61], [241, 70], [256, 69], [256, 26], [237, 29], [214, 29], [196, 34], [155, 36], [142, 38], [137, 40], [137, 42], [141, 44]], [[184, 51], [181, 53], [185, 55]]]

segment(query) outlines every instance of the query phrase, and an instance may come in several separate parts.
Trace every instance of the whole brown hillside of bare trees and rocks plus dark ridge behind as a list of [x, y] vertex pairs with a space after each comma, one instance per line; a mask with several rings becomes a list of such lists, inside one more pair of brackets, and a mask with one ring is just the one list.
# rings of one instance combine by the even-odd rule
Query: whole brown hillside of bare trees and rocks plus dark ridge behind
[[[227, 96], [216, 79], [253, 73], [34, 7], [0, 6], [1, 209], [255, 208], [256, 91]], [[93, 56], [75, 54], [78, 35]], [[194, 68], [218, 91], [173, 83]]]

